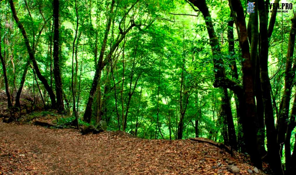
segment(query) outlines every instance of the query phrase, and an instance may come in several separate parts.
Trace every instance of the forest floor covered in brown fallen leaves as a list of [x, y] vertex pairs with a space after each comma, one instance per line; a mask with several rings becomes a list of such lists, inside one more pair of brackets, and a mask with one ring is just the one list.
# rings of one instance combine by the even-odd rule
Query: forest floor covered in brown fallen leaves
[[0, 174], [265, 174], [244, 160], [191, 140], [0, 122]]

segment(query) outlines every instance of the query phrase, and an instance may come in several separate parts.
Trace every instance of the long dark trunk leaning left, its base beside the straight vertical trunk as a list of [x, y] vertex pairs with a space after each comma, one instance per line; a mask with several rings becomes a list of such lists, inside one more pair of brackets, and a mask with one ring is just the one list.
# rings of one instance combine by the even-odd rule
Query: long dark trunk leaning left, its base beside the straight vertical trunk
[[29, 38], [27, 36], [25, 28], [22, 25], [22, 23], [20, 23], [20, 20], [17, 17], [17, 13], [16, 13], [16, 10], [15, 10], [15, 6], [13, 4], [13, 1], [9, 0], [9, 4], [10, 4], [10, 8], [11, 8], [13, 17], [15, 19], [15, 22], [16, 22], [18, 28], [20, 29], [20, 31], [22, 33], [22, 36], [24, 38], [25, 45], [27, 47], [27, 51], [28, 51], [28, 54], [29, 54], [29, 58], [30, 58], [30, 61], [32, 61], [32, 63], [33, 63], [33, 67], [34, 67], [34, 70], [36, 72], [36, 75], [37, 75], [38, 79], [42, 82], [44, 87], [46, 88], [46, 91], [48, 92], [49, 97], [51, 99], [52, 107], [54, 107], [55, 104], [56, 104], [56, 99], [55, 99], [54, 92], [53, 92], [52, 88], [49, 86], [49, 84], [48, 84], [47, 80], [45, 79], [45, 77], [42, 76], [42, 74], [41, 74], [41, 72], [39, 70], [38, 64], [37, 64], [35, 56], [34, 56], [34, 51], [32, 50], [32, 48], [30, 46]]

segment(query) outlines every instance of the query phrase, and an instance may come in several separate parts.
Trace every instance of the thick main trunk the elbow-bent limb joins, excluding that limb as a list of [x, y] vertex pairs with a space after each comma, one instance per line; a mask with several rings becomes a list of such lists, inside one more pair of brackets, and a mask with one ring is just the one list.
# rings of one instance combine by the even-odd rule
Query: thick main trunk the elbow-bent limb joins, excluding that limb
[[[254, 79], [253, 79], [253, 69], [252, 60], [250, 55], [250, 47], [248, 42], [247, 27], [244, 17], [244, 9], [242, 3], [239, 0], [229, 0], [229, 6], [231, 11], [233, 11], [233, 16], [236, 15], [236, 25], [239, 29], [239, 45], [242, 49], [242, 73], [243, 73], [243, 88], [244, 95], [243, 101], [244, 105], [240, 105], [244, 108], [242, 111], [242, 127], [244, 138], [246, 140], [246, 146], [248, 153], [251, 156], [251, 162], [258, 168], [262, 168], [262, 161], [258, 150], [257, 143], [257, 116], [256, 116], [256, 105], [255, 105], [255, 92], [254, 92]], [[235, 7], [235, 9], [232, 9]], [[251, 14], [254, 15], [254, 14]], [[251, 127], [252, 126], [252, 127]]]

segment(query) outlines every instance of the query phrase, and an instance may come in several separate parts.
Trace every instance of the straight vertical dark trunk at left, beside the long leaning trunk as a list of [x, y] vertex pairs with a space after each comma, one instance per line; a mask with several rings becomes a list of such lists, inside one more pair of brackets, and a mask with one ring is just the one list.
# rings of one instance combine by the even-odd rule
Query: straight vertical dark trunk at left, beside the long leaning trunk
[[[57, 95], [57, 109], [61, 113], [65, 110], [63, 101], [62, 79], [59, 68], [59, 0], [53, 0], [54, 18], [54, 81]], [[75, 105], [75, 104], [74, 104]]]

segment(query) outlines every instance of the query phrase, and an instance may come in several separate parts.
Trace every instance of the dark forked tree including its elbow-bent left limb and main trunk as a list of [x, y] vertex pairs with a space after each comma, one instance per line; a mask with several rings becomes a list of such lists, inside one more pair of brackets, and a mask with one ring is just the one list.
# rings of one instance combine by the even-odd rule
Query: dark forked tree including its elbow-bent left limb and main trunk
[[[262, 168], [261, 157], [257, 148], [257, 128], [256, 128], [256, 105], [254, 93], [254, 80], [252, 61], [250, 56], [250, 47], [248, 42], [247, 27], [244, 18], [244, 9], [239, 0], [230, 0], [229, 5], [233, 12], [233, 17], [239, 29], [239, 43], [242, 49], [242, 72], [243, 72], [243, 88], [236, 82], [226, 78], [225, 69], [223, 67], [223, 60], [220, 58], [221, 53], [218, 38], [215, 35], [213, 22], [205, 0], [189, 0], [196, 6], [203, 14], [207, 26], [208, 35], [210, 38], [210, 45], [213, 54], [214, 69], [217, 70], [215, 74], [214, 86], [227, 87], [238, 95], [240, 102], [240, 114], [242, 114], [243, 133], [248, 148], [248, 153], [251, 155], [251, 161], [258, 168]], [[235, 7], [232, 9], [232, 7]], [[236, 13], [234, 13], [236, 12]], [[247, 116], [248, 115], [248, 116]], [[255, 127], [251, 127], [255, 126]]]

